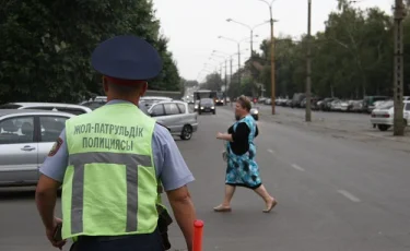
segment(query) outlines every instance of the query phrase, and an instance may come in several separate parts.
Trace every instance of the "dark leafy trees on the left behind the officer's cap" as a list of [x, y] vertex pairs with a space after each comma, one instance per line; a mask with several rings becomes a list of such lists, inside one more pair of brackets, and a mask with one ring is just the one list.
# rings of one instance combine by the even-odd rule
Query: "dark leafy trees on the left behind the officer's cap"
[[0, 103], [79, 101], [101, 93], [93, 49], [134, 34], [160, 51], [164, 69], [150, 88], [177, 91], [179, 74], [148, 0], [26, 0], [0, 7]]

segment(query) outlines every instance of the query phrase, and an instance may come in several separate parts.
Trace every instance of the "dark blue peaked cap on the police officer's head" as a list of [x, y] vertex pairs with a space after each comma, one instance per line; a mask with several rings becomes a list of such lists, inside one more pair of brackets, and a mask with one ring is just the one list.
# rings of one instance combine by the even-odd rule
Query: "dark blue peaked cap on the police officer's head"
[[136, 36], [116, 36], [94, 49], [91, 63], [103, 75], [120, 80], [149, 80], [160, 74], [156, 49]]

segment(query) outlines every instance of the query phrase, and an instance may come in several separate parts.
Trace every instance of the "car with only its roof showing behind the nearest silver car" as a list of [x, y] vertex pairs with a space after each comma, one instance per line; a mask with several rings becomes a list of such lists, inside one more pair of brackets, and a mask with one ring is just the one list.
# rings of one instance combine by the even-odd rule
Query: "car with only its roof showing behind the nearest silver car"
[[63, 104], [63, 103], [8, 103], [0, 106], [0, 109], [38, 109], [38, 110], [55, 110], [69, 112], [73, 115], [83, 115], [93, 111], [89, 107]]

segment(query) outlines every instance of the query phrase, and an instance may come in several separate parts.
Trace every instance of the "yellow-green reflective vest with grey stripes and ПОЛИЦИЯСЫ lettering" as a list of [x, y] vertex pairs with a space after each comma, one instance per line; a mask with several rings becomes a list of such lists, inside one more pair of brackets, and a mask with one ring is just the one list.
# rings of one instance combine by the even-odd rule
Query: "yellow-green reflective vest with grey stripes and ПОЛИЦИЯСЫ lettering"
[[62, 237], [153, 232], [157, 180], [155, 121], [132, 104], [103, 106], [67, 120]]

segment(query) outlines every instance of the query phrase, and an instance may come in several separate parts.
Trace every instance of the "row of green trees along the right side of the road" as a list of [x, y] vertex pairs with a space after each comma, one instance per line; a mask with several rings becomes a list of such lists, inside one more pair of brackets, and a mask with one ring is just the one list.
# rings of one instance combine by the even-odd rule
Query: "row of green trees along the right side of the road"
[[[364, 95], [393, 95], [394, 19], [378, 8], [355, 9], [340, 0], [339, 11], [329, 14], [326, 28], [312, 37], [312, 88], [321, 96], [362, 98]], [[405, 94], [410, 95], [410, 15], [403, 21]], [[270, 96], [270, 40], [260, 44], [244, 71], [253, 83], [261, 83]], [[292, 96], [305, 92], [306, 36], [276, 38], [276, 93]], [[255, 61], [262, 64], [255, 71]], [[236, 80], [236, 74], [233, 76]], [[245, 94], [234, 82], [230, 94]]]

